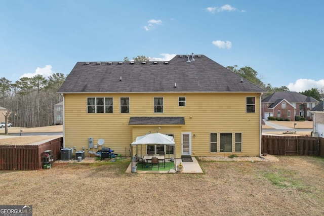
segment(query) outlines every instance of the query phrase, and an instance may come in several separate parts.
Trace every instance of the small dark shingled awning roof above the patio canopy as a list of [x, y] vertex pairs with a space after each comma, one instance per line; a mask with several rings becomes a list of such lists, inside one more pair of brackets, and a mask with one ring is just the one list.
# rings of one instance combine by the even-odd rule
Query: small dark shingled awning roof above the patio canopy
[[129, 125], [142, 124], [185, 124], [184, 117], [131, 117]]

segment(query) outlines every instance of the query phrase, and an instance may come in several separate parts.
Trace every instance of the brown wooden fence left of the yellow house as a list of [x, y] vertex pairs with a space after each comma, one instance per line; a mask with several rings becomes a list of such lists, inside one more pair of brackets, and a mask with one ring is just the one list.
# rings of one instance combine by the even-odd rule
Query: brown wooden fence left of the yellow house
[[0, 170], [35, 170], [43, 167], [43, 153], [52, 150], [52, 158], [60, 158], [63, 138], [38, 145], [0, 146]]

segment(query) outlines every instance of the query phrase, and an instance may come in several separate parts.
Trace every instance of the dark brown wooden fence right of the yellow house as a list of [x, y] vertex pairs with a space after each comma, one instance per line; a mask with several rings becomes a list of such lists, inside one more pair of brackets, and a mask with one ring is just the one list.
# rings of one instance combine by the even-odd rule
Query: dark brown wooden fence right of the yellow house
[[322, 138], [302, 136], [262, 136], [261, 153], [272, 155], [324, 156]]

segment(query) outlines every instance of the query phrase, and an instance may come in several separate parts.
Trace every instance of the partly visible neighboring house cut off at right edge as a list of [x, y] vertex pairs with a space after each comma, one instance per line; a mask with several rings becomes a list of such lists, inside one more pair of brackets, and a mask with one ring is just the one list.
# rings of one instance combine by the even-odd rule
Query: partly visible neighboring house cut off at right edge
[[313, 115], [313, 136], [323, 137], [324, 135], [324, 107], [323, 101], [311, 109]]

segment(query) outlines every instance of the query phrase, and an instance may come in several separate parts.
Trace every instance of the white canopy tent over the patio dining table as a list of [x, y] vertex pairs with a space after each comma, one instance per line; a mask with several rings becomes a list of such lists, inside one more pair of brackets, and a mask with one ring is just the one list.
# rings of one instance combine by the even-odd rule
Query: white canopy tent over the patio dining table
[[[150, 144], [151, 145], [168, 145], [168, 146], [176, 145], [173, 137], [171, 137], [171, 136], [164, 135], [161, 133], [146, 134], [146, 135], [137, 137], [136, 140], [131, 144], [132, 155], [133, 155], [133, 146], [150, 145]], [[176, 151], [176, 148], [174, 148], [174, 151]], [[132, 167], [133, 167], [133, 160], [132, 160]], [[175, 167], [175, 169], [176, 169], [176, 167]]]

